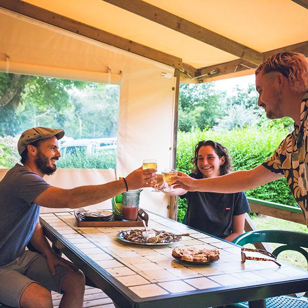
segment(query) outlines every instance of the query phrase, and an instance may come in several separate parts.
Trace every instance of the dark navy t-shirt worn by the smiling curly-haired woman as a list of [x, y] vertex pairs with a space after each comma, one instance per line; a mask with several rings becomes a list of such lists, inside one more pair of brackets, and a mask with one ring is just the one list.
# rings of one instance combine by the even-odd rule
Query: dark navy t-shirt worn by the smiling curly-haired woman
[[233, 216], [250, 210], [243, 191], [234, 194], [187, 191], [180, 198], [187, 200], [188, 226], [223, 239], [232, 233]]

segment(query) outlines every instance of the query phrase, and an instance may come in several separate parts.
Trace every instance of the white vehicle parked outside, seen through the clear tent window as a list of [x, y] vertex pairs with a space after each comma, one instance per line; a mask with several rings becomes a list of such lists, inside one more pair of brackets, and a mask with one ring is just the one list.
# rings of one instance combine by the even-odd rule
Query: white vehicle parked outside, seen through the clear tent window
[[68, 153], [77, 152], [95, 155], [99, 152], [117, 148], [117, 138], [95, 138], [95, 139], [76, 139], [68, 140], [61, 145], [60, 153], [64, 158]]

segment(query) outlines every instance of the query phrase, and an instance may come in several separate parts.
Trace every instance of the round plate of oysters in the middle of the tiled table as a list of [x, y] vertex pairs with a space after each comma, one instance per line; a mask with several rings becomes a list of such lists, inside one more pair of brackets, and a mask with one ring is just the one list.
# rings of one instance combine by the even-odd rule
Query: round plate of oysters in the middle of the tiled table
[[117, 234], [117, 238], [123, 242], [139, 245], [167, 245], [182, 239], [180, 235], [154, 229], [148, 232], [145, 229], [122, 230]]

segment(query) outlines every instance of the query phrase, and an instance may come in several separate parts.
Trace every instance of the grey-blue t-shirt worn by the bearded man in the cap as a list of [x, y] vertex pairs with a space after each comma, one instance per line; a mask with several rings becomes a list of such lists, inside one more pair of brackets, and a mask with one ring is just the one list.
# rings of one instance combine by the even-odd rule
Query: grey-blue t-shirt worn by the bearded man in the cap
[[40, 215], [40, 206], [33, 200], [50, 186], [20, 164], [0, 182], [0, 266], [24, 251]]

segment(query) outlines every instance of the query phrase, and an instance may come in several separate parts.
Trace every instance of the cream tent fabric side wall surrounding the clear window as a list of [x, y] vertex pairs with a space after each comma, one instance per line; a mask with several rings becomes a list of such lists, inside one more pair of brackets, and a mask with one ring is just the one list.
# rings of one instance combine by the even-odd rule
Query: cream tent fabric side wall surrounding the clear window
[[[7, 69], [6, 54], [10, 56], [9, 71], [25, 74], [104, 82], [104, 75], [108, 77], [108, 66], [111, 68], [111, 81], [121, 84], [118, 176], [126, 176], [140, 167], [144, 159], [157, 159], [159, 170], [171, 166], [174, 68], [3, 9], [0, 9], [0, 29], [6, 29], [0, 35], [2, 71]], [[18, 66], [18, 63], [23, 65]], [[86, 74], [81, 76], [74, 74], [76, 72]], [[166, 74], [162, 76], [162, 73]], [[60, 169], [55, 172], [53, 184], [56, 186], [61, 187], [63, 183], [62, 172]], [[80, 171], [75, 172], [79, 178]], [[170, 198], [150, 190], [146, 188], [142, 192], [142, 206], [168, 216]]]

